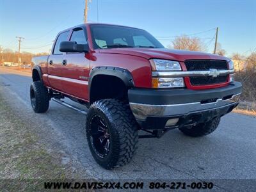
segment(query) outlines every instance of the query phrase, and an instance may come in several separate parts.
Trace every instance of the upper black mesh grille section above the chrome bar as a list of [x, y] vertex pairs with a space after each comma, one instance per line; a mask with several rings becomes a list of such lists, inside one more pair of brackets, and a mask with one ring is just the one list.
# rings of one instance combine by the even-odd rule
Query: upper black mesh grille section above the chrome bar
[[227, 70], [227, 61], [221, 60], [187, 60], [185, 61], [187, 70], [209, 70], [216, 68], [217, 70]]

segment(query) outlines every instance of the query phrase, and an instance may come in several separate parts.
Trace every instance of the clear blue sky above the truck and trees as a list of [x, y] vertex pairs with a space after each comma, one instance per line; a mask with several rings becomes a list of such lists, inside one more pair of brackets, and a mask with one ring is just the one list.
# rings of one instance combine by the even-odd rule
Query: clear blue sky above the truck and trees
[[[0, 0], [0, 45], [21, 51], [49, 52], [59, 31], [82, 24], [85, 0]], [[256, 0], [92, 0], [88, 22], [121, 24], [147, 30], [165, 47], [179, 35], [196, 36], [207, 52], [214, 36], [227, 51], [256, 51]]]

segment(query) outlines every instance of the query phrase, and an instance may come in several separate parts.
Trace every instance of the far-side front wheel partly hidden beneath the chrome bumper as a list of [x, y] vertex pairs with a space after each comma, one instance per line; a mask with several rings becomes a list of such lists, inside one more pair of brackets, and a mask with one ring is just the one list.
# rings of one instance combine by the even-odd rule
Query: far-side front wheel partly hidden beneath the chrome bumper
[[215, 131], [220, 124], [220, 118], [214, 118], [213, 120], [204, 124], [198, 124], [190, 127], [179, 128], [181, 132], [191, 137], [201, 137]]

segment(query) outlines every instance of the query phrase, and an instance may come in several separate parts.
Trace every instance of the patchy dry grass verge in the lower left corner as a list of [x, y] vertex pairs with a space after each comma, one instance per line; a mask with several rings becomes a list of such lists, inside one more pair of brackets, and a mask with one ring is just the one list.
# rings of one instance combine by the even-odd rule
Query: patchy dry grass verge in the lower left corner
[[58, 151], [40, 143], [32, 127], [12, 111], [0, 93], [0, 191], [42, 190], [42, 182], [74, 176], [71, 169], [61, 164]]

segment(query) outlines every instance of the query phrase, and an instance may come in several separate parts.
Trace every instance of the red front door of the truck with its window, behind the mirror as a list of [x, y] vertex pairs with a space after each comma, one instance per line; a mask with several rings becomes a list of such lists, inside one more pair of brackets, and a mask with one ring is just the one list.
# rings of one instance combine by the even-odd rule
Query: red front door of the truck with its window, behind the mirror
[[[77, 44], [87, 44], [87, 35], [84, 28], [72, 29], [70, 41]], [[90, 72], [90, 60], [86, 58], [89, 53], [67, 52], [63, 56], [62, 86], [65, 93], [79, 99], [88, 100], [88, 76]]]

